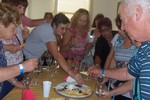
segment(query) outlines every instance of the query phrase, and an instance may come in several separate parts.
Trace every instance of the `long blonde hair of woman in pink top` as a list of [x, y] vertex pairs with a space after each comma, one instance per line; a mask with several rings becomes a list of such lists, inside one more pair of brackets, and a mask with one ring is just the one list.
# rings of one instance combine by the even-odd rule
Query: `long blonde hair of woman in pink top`
[[76, 26], [78, 19], [82, 16], [82, 15], [87, 15], [87, 23], [85, 25], [85, 28], [89, 29], [90, 27], [90, 18], [89, 18], [89, 12], [86, 9], [78, 9], [73, 17], [71, 18], [71, 24], [73, 26]]

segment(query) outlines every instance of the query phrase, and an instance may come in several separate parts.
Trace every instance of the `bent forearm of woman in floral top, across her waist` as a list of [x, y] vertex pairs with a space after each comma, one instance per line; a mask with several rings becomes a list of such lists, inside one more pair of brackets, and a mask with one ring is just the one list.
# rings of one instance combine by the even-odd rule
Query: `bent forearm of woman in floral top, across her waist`
[[19, 50], [22, 50], [23, 48], [20, 45], [16, 44], [4, 44], [4, 50], [9, 51], [11, 53], [15, 53]]

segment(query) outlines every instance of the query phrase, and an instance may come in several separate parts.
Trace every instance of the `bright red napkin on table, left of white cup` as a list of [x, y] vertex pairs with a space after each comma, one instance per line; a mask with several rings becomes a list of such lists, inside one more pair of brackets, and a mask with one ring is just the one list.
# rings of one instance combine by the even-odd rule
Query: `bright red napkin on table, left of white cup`
[[22, 100], [35, 100], [35, 94], [30, 89], [24, 89], [22, 92]]

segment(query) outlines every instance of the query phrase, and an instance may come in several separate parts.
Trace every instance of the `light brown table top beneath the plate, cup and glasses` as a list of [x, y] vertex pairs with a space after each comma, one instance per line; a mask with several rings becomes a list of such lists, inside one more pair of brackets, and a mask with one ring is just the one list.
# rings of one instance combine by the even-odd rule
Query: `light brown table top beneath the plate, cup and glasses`
[[[36, 79], [33, 76], [33, 72], [31, 72], [28, 76], [32, 78], [33, 81], [38, 81], [38, 82], [43, 82], [45, 80], [51, 81], [52, 82], [52, 88], [50, 91], [50, 96], [49, 98], [44, 98], [43, 97], [43, 92], [42, 92], [42, 84], [41, 85], [34, 85], [31, 86], [30, 88], [33, 90], [33, 93], [36, 95], [36, 100], [84, 100], [84, 99], [71, 99], [71, 98], [65, 98], [59, 94], [57, 94], [54, 90], [55, 86], [59, 83], [65, 82], [64, 77], [67, 76], [67, 74], [61, 69], [57, 69], [57, 73], [54, 77], [50, 77], [49, 72], [46, 70], [42, 70], [42, 72], [39, 74], [38, 78]], [[85, 84], [92, 88], [94, 90], [95, 88], [95, 83], [96, 80], [90, 77], [89, 80], [85, 80]], [[19, 88], [14, 88], [8, 95], [6, 95], [3, 100], [21, 100], [22, 99], [22, 89]], [[97, 100], [97, 96], [95, 93], [93, 93], [92, 96], [86, 98], [86, 100]], [[102, 98], [101, 100], [110, 100], [110, 98]]]

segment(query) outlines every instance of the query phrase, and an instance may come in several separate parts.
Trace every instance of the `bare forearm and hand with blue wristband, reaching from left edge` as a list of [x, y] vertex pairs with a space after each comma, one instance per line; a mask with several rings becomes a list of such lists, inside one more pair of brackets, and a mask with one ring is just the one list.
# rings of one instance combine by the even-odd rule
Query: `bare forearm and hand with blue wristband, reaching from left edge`
[[[37, 66], [38, 61], [36, 58], [31, 58], [27, 61], [24, 61], [22, 65], [24, 66], [24, 72], [33, 71]], [[0, 82], [8, 80], [20, 74], [20, 69], [18, 65], [0, 67]]]

